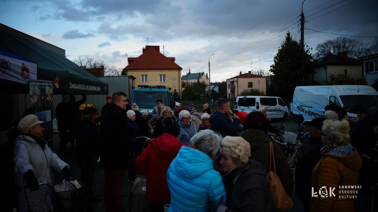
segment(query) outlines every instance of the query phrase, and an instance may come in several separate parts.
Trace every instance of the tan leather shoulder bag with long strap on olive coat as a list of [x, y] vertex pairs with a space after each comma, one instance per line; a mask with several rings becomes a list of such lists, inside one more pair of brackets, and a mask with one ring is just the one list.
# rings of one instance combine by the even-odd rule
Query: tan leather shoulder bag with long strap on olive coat
[[270, 162], [269, 162], [269, 169], [271, 169], [272, 165], [272, 158], [273, 158], [273, 166], [274, 171], [270, 170], [268, 175], [266, 175], [266, 179], [269, 182], [269, 190], [273, 197], [274, 209], [277, 212], [287, 212], [293, 207], [293, 201], [291, 200], [290, 196], [286, 194], [285, 189], [283, 189], [282, 183], [278, 176], [276, 175], [276, 162], [274, 162], [274, 152], [273, 152], [273, 144], [270, 141]]

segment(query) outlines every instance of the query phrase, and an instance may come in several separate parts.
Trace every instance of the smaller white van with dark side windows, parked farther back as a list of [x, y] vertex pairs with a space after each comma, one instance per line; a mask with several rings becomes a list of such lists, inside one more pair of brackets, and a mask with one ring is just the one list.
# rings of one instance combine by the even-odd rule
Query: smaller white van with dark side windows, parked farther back
[[238, 111], [249, 114], [261, 107], [266, 108], [266, 116], [271, 119], [287, 119], [287, 105], [277, 96], [238, 96], [236, 98], [236, 110]]

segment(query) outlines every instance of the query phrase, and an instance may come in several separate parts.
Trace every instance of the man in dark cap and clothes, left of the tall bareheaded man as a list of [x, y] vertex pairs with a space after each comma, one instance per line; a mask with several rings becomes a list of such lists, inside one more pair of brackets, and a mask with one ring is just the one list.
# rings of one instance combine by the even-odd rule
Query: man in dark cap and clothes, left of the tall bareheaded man
[[99, 157], [99, 135], [96, 130], [97, 110], [86, 107], [83, 110], [84, 120], [78, 129], [76, 157], [81, 170], [81, 181], [84, 185], [85, 210], [93, 211], [92, 184], [95, 176], [96, 162]]

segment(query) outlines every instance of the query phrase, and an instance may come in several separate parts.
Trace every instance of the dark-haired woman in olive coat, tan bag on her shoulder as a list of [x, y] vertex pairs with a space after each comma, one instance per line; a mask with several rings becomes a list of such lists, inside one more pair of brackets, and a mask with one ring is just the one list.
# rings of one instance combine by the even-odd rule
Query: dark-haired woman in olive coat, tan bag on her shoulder
[[[273, 163], [269, 167], [270, 162], [270, 139], [266, 135], [268, 129], [268, 119], [260, 112], [251, 112], [248, 114], [244, 122], [244, 131], [240, 133], [240, 137], [248, 141], [251, 145], [251, 156], [249, 159], [257, 160], [262, 163], [265, 170], [272, 170]], [[274, 162], [276, 163], [276, 174], [280, 178], [283, 189], [290, 196], [294, 187], [293, 170], [290, 169], [286, 157], [281, 147], [276, 142], [272, 142], [274, 151]]]

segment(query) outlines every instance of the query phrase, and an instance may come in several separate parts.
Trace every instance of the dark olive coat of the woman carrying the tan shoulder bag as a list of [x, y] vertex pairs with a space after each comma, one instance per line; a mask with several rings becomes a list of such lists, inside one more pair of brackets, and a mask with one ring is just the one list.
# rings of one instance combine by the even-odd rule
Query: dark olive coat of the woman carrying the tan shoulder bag
[[[269, 138], [262, 130], [244, 130], [240, 133], [240, 137], [248, 141], [251, 145], [251, 156], [249, 159], [257, 160], [262, 163], [266, 171], [269, 172]], [[276, 142], [272, 142], [274, 151], [274, 161], [276, 162], [276, 173], [280, 178], [283, 189], [290, 196], [294, 187], [293, 171], [287, 163], [286, 157], [282, 152], [282, 149]], [[273, 163], [271, 170], [274, 170]]]

